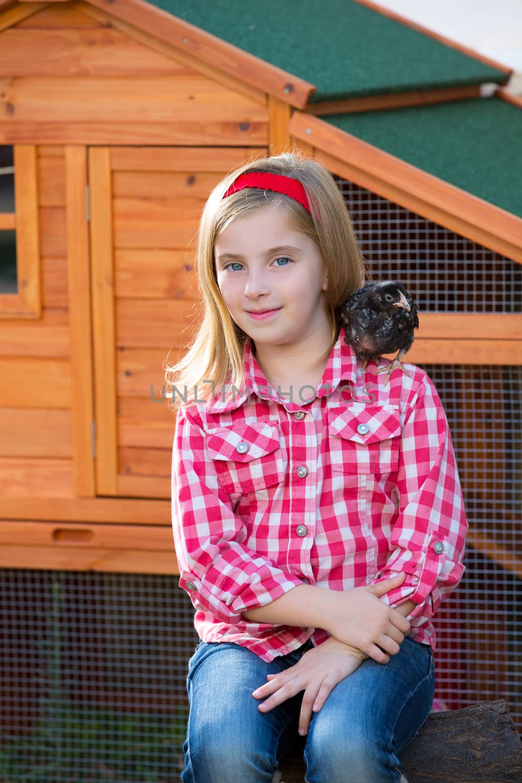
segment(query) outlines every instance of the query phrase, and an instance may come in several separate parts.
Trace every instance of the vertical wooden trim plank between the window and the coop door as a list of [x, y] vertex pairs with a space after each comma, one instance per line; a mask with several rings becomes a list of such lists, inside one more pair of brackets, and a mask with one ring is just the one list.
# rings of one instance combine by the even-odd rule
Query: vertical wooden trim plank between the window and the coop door
[[65, 164], [74, 492], [89, 497], [95, 495], [92, 454], [95, 413], [85, 147], [67, 146]]

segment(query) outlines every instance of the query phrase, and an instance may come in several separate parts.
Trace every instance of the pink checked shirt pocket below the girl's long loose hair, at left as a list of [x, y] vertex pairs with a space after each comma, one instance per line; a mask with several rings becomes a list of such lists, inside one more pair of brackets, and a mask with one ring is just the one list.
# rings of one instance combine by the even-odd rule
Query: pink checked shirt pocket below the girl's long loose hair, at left
[[278, 420], [214, 429], [207, 435], [207, 448], [218, 481], [229, 495], [247, 495], [284, 481]]

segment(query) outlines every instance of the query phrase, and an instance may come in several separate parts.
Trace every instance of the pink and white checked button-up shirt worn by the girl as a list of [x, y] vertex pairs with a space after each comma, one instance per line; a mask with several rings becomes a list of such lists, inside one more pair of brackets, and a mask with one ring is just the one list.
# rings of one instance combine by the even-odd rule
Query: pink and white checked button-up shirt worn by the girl
[[430, 377], [404, 363], [411, 377], [394, 370], [384, 385], [375, 362], [362, 372], [344, 327], [310, 402], [311, 387], [272, 388], [250, 338], [243, 365], [240, 390], [216, 389], [176, 417], [172, 526], [200, 639], [270, 662], [329, 633], [241, 612], [303, 583], [351, 590], [404, 571], [380, 600], [415, 601], [411, 635], [435, 650], [430, 618], [463, 576], [467, 522]]

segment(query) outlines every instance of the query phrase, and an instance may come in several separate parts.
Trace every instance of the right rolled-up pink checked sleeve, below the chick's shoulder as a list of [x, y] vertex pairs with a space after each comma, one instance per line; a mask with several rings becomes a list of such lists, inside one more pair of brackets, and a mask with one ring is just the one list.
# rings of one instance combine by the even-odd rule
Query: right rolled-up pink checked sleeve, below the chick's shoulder
[[391, 554], [372, 584], [405, 572], [380, 600], [398, 606], [409, 598], [417, 604], [409, 618], [430, 618], [462, 579], [467, 521], [448, 420], [426, 373], [401, 432], [397, 490]]

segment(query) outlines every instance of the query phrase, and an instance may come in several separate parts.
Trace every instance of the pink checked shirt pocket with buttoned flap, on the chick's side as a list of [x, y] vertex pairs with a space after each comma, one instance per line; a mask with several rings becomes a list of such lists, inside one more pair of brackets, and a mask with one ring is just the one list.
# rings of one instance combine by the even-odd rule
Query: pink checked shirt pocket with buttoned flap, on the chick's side
[[333, 471], [383, 474], [398, 470], [398, 406], [332, 408], [328, 434]]

